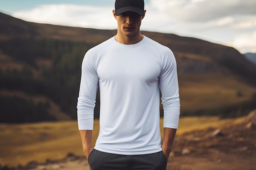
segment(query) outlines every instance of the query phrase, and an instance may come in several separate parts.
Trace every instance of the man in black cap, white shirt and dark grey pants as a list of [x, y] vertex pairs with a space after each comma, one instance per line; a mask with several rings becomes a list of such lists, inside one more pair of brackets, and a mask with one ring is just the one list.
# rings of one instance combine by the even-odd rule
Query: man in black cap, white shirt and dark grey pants
[[[91, 170], [166, 170], [180, 115], [176, 61], [170, 49], [141, 35], [145, 13], [144, 0], [116, 0], [117, 35], [83, 59], [77, 114]], [[92, 148], [98, 88], [100, 131]]]

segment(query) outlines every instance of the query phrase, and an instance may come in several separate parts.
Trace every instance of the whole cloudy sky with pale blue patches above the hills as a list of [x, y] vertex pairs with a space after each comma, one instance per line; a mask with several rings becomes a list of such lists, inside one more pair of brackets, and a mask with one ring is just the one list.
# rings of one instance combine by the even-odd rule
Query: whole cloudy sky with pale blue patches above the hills
[[[115, 0], [0, 0], [0, 12], [22, 20], [116, 29]], [[145, 0], [141, 30], [174, 33], [256, 53], [256, 0]]]

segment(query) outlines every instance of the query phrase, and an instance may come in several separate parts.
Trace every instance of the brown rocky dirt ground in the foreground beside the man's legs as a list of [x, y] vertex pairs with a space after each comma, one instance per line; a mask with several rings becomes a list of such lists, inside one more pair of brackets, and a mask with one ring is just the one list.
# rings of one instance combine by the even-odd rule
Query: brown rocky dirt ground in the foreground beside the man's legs
[[[90, 170], [85, 157], [67, 155], [46, 163], [0, 170]], [[256, 170], [256, 127], [251, 122], [206, 129], [175, 137], [166, 170]]]

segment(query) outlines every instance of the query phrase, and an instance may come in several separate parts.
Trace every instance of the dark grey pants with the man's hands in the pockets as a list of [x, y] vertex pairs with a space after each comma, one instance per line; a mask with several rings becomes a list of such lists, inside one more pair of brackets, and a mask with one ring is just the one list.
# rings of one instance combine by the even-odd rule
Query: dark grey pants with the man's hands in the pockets
[[93, 149], [88, 157], [91, 170], [166, 170], [164, 152], [117, 155]]

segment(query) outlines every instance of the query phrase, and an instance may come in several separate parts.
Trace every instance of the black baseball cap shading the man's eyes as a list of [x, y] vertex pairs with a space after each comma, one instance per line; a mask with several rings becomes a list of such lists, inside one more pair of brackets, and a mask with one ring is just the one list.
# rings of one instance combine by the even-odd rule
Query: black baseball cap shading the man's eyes
[[116, 0], [115, 11], [117, 16], [127, 11], [133, 11], [143, 16], [144, 0]]

